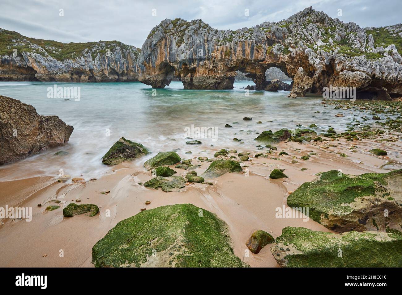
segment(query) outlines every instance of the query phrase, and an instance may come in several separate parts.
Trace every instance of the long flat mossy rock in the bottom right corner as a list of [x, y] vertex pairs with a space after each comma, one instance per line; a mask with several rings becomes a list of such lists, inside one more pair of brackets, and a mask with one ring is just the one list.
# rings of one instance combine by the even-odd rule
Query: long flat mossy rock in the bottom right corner
[[285, 227], [271, 252], [281, 267], [402, 267], [402, 236]]

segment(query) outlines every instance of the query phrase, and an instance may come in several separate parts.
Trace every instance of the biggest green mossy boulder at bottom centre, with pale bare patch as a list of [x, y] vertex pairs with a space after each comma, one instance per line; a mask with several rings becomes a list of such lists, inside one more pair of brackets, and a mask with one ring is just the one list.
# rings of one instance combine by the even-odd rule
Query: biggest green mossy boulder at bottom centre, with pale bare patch
[[168, 205], [119, 222], [92, 248], [95, 267], [248, 267], [228, 226], [192, 204]]

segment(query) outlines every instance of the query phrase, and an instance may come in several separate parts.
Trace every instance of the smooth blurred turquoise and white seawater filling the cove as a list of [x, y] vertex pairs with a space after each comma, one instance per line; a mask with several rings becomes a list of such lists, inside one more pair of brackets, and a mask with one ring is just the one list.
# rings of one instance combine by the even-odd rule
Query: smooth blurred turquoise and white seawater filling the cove
[[[80, 101], [47, 98], [47, 87], [81, 87]], [[18, 179], [37, 175], [64, 174], [73, 177], [99, 177], [110, 167], [102, 164], [102, 157], [120, 137], [144, 144], [153, 153], [135, 160], [144, 161], [160, 151], [178, 151], [181, 157], [195, 155], [211, 157], [211, 151], [226, 147], [255, 150], [253, 140], [258, 132], [297, 128], [296, 124], [328, 126], [345, 130], [353, 118], [352, 110], [334, 110], [320, 104], [322, 97], [287, 98], [289, 92], [250, 91], [241, 89], [250, 81], [235, 81], [233, 90], [183, 90], [180, 81], [171, 82], [165, 89], [155, 90], [140, 82], [133, 83], [55, 83], [0, 82], [0, 94], [34, 106], [41, 115], [57, 115], [74, 126], [67, 145], [49, 149], [39, 155], [0, 167], [7, 169], [1, 178]], [[319, 114], [314, 114], [316, 111]], [[345, 117], [336, 118], [337, 112]], [[312, 116], [316, 115], [316, 118]], [[243, 117], [253, 120], [244, 121]], [[328, 118], [329, 120], [324, 120]], [[256, 124], [258, 121], [262, 124]], [[233, 124], [238, 122], [239, 124]], [[225, 128], [228, 123], [233, 128]], [[185, 128], [214, 128], [216, 138], [199, 138], [202, 144], [185, 144]], [[110, 136], [107, 136], [110, 130]], [[239, 131], [244, 130], [244, 131]], [[252, 130], [247, 134], [247, 130]], [[319, 129], [320, 130], [320, 129]], [[234, 142], [240, 138], [244, 144]], [[195, 138], [196, 139], [196, 138]], [[215, 140], [216, 139], [216, 140]], [[213, 146], [211, 146], [211, 144]], [[69, 155], [53, 156], [57, 151]], [[192, 151], [192, 155], [185, 155]], [[206, 151], [206, 152], [205, 152]], [[4, 172], [4, 171], [3, 171]]]

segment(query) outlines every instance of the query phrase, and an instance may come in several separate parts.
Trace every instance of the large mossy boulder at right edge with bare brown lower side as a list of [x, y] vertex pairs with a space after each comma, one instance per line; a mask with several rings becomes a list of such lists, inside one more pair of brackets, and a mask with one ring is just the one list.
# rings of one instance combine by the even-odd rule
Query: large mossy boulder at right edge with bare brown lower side
[[312, 220], [337, 232], [402, 232], [401, 203], [402, 169], [362, 175], [332, 170], [287, 197], [289, 207], [310, 208]]

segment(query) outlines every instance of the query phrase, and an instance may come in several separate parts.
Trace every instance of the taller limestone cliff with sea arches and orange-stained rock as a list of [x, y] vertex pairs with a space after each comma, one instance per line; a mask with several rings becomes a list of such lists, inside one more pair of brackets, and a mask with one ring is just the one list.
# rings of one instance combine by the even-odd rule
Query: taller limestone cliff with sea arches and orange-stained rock
[[265, 72], [278, 67], [292, 79], [298, 76], [291, 97], [320, 94], [332, 84], [357, 87], [358, 98], [390, 99], [402, 94], [401, 31], [402, 24], [360, 28], [311, 7], [281, 22], [236, 31], [166, 19], [142, 45], [139, 81], [160, 88], [175, 76], [184, 88], [232, 89], [241, 71], [256, 89], [265, 89]]

